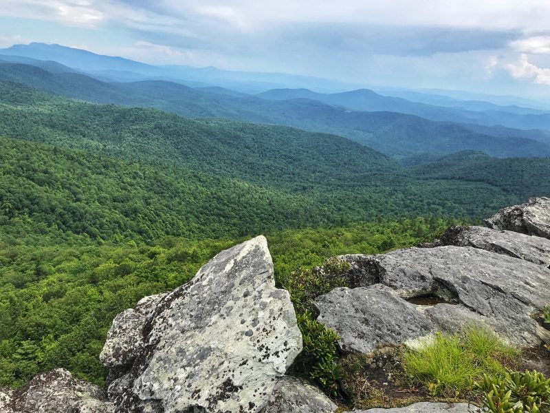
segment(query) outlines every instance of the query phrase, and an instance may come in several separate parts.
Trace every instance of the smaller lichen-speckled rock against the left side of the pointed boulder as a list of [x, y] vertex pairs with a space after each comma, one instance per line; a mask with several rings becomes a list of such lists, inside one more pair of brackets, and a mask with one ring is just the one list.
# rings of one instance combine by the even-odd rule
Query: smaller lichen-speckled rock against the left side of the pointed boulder
[[107, 367], [128, 366], [144, 347], [143, 326], [148, 315], [166, 294], [142, 298], [134, 308], [122, 311], [113, 319], [107, 341], [99, 356]]

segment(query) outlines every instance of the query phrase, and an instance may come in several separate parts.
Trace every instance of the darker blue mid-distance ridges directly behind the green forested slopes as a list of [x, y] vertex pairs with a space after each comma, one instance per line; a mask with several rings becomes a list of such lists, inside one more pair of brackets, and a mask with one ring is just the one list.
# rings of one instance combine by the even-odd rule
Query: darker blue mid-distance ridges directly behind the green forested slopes
[[187, 117], [229, 118], [338, 134], [395, 158], [463, 150], [485, 151], [496, 157], [550, 156], [548, 134], [544, 131], [487, 130], [410, 114], [354, 112], [306, 98], [265, 100], [232, 96], [166, 81], [106, 83], [84, 74], [52, 73], [12, 63], [0, 64], [0, 80], [95, 103], [153, 107]]

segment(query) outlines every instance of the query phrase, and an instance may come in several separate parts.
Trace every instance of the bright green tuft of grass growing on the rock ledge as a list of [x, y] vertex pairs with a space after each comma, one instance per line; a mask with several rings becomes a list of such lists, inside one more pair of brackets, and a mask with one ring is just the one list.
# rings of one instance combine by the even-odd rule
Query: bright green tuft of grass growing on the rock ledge
[[432, 396], [456, 397], [487, 374], [502, 377], [518, 351], [485, 328], [467, 328], [456, 335], [437, 333], [433, 341], [405, 354], [405, 371]]

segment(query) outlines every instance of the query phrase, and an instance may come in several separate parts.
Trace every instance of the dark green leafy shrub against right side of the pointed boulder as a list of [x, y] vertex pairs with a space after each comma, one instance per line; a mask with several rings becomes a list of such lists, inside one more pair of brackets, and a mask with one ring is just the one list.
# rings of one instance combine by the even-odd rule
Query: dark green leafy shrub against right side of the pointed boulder
[[295, 369], [298, 373], [308, 374], [331, 396], [338, 396], [342, 372], [336, 363], [336, 341], [340, 337], [336, 331], [311, 319], [311, 313], [298, 315], [297, 319], [303, 350], [296, 360]]

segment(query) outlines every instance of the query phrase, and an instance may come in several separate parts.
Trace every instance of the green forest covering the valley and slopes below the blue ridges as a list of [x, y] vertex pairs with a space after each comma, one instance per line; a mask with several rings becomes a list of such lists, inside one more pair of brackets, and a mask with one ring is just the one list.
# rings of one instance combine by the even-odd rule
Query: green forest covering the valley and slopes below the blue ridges
[[548, 159], [459, 153], [405, 168], [338, 136], [12, 82], [0, 136], [0, 386], [12, 388], [56, 367], [102, 383], [113, 317], [248, 237], [267, 235], [281, 283], [550, 194]]

